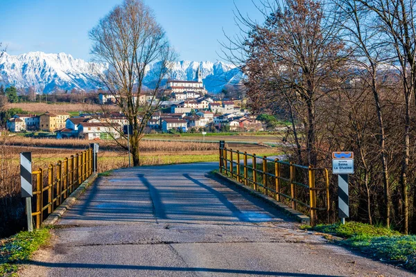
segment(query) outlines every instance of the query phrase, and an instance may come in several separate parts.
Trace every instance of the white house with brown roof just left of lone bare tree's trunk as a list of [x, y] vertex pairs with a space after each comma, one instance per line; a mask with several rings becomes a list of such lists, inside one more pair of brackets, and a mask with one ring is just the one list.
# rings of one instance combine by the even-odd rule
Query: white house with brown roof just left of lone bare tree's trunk
[[80, 123], [78, 134], [87, 140], [118, 139], [120, 137], [119, 130], [108, 123]]

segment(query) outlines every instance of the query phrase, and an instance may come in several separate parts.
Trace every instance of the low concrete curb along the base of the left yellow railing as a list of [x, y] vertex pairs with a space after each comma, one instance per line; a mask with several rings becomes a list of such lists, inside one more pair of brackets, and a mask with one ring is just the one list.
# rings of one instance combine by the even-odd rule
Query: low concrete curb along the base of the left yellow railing
[[87, 190], [87, 188], [94, 183], [97, 177], [98, 174], [93, 174], [90, 177], [88, 177], [85, 181], [83, 181], [83, 184], [80, 184], [80, 186], [73, 193], [71, 193], [71, 195], [69, 195], [69, 197], [65, 199], [64, 202], [62, 202], [62, 204], [60, 204], [60, 206], [58, 206], [58, 208], [55, 209], [55, 211], [53, 211], [53, 213], [46, 217], [46, 220], [44, 220], [42, 226], [51, 226], [55, 224], [60, 219], [60, 217], [62, 217], [62, 215], [67, 211], [67, 209], [71, 207], [73, 204], [75, 204], [78, 197], [80, 197], [80, 195], [82, 195], [85, 192], [85, 190]]

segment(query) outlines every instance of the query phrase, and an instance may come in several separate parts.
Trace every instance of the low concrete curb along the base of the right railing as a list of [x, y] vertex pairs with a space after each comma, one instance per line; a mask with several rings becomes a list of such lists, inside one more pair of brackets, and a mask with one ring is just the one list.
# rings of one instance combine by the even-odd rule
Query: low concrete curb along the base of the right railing
[[260, 193], [257, 190], [244, 186], [243, 184], [240, 184], [236, 180], [231, 179], [227, 176], [224, 176], [220, 174], [219, 172], [211, 172], [211, 173], [214, 174], [216, 177], [229, 181], [229, 183], [233, 184], [234, 186], [245, 190], [246, 192], [250, 193], [250, 195], [253, 195], [254, 197], [257, 197], [259, 199], [263, 199], [265, 202], [267, 202], [271, 206], [275, 206], [275, 208], [277, 208], [280, 211], [283, 211], [284, 213], [286, 213], [286, 215], [293, 217], [298, 222], [302, 224], [307, 224], [307, 225], [311, 224], [311, 218], [304, 215], [303, 213], [299, 213], [298, 211], [293, 210], [293, 208], [289, 208], [288, 206], [286, 206], [285, 204], [281, 202], [277, 202], [277, 200], [273, 199], [272, 197], [263, 195], [263, 193]]

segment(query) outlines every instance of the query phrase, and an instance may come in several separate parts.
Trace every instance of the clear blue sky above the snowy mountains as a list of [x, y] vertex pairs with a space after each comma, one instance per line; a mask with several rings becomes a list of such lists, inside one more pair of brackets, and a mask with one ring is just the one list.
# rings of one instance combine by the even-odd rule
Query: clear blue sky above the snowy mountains
[[[88, 31], [122, 0], [0, 0], [0, 42], [8, 53], [68, 53], [89, 60]], [[222, 60], [219, 41], [239, 32], [233, 0], [145, 0], [180, 54], [180, 60]], [[260, 18], [252, 0], [235, 0]]]

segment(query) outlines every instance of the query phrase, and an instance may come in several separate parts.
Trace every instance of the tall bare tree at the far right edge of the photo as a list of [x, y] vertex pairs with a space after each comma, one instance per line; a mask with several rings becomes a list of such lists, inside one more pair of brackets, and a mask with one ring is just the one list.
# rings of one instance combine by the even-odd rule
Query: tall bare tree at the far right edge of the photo
[[411, 107], [416, 93], [416, 17], [413, 0], [360, 0], [374, 15], [374, 22], [383, 38], [392, 47], [392, 64], [399, 71], [403, 91], [403, 156], [401, 163], [401, 194], [404, 233], [408, 233], [408, 168], [410, 158]]

